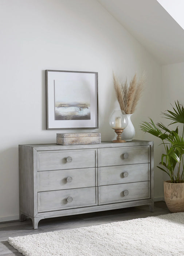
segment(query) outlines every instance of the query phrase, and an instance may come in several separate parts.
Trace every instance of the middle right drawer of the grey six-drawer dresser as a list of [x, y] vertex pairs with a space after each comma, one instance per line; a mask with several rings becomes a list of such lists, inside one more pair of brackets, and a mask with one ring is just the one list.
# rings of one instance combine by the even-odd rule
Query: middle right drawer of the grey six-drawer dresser
[[148, 181], [149, 172], [149, 163], [99, 167], [98, 186]]

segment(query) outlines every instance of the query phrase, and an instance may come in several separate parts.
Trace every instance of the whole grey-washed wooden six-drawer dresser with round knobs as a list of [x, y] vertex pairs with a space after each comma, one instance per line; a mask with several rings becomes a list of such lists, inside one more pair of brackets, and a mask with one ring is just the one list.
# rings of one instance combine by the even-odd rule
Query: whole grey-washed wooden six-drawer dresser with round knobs
[[149, 205], [153, 142], [19, 145], [20, 221]]

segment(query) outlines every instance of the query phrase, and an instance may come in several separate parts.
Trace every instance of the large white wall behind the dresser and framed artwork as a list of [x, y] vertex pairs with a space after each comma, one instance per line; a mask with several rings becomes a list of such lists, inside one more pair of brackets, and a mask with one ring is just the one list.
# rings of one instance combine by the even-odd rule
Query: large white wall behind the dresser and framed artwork
[[[46, 130], [44, 70], [98, 72], [95, 131], [102, 140], [115, 137], [108, 124], [119, 108], [112, 70], [128, 80], [145, 70], [145, 91], [132, 121], [136, 139], [153, 140], [139, 124], [148, 116], [159, 118], [161, 66], [94, 0], [1, 0], [0, 19], [0, 221], [6, 221], [19, 214], [18, 144], [54, 143], [61, 131]], [[155, 165], [160, 161], [157, 144]], [[163, 196], [162, 186], [162, 173], [155, 169], [156, 197]]]

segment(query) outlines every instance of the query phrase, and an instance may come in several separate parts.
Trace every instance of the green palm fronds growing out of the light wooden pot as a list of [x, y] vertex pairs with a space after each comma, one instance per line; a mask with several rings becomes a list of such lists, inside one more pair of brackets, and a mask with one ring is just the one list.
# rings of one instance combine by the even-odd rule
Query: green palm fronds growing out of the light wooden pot
[[[161, 162], [157, 167], [169, 175], [172, 183], [180, 183], [184, 182], [184, 108], [179, 101], [175, 101], [175, 105], [175, 107], [172, 106], [173, 111], [166, 110], [166, 112], [162, 114], [164, 118], [172, 120], [171, 124], [183, 124], [182, 136], [179, 135], [178, 126], [175, 130], [170, 130], [168, 126], [164, 125], [163, 123], [154, 124], [151, 118], [149, 118], [150, 122], [143, 122], [140, 125], [140, 128], [142, 131], [148, 132], [162, 139], [161, 144], [164, 145], [165, 153], [161, 155]], [[177, 172], [175, 174], [176, 165]], [[181, 173], [180, 166], [182, 166]]]

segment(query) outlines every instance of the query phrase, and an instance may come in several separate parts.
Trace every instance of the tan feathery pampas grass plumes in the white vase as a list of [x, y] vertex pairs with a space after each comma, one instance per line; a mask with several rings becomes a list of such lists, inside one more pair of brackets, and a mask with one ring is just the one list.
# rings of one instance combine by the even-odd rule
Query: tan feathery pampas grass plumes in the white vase
[[135, 74], [128, 86], [127, 79], [124, 83], [120, 83], [117, 76], [113, 72], [113, 82], [116, 97], [120, 104], [121, 110], [124, 110], [126, 114], [133, 114], [135, 112], [138, 100], [140, 99], [141, 93], [144, 89], [145, 81], [145, 73], [139, 80], [137, 80], [137, 75]]

